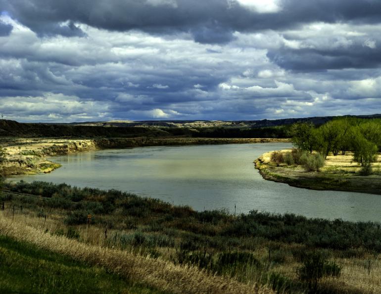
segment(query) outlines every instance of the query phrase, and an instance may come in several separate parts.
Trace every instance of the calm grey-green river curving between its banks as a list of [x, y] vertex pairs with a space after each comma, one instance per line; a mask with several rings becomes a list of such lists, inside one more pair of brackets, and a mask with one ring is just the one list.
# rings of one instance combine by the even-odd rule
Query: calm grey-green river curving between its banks
[[262, 178], [253, 161], [290, 143], [160, 146], [112, 149], [54, 157], [49, 174], [12, 180], [50, 181], [118, 189], [195, 210], [292, 212], [308, 217], [380, 221], [381, 196], [314, 191]]

